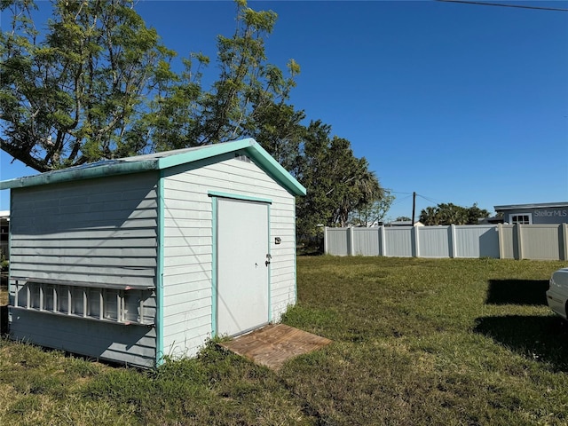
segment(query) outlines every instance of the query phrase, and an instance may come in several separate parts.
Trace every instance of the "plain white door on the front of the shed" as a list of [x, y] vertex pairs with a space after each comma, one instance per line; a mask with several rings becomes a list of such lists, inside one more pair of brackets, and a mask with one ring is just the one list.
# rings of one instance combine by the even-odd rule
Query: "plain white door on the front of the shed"
[[268, 204], [217, 198], [217, 335], [269, 322]]

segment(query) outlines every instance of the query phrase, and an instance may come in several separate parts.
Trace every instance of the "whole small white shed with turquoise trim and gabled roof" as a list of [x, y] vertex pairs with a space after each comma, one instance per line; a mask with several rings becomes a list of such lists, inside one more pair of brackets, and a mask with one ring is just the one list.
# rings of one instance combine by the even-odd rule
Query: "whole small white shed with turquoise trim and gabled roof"
[[0, 182], [10, 335], [140, 367], [296, 303], [300, 185], [254, 139]]

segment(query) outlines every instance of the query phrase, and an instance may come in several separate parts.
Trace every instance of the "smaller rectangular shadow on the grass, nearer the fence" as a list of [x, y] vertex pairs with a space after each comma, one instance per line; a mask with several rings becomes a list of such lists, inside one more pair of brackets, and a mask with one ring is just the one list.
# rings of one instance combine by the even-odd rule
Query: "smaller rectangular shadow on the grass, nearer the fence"
[[489, 280], [485, 304], [547, 305], [548, 280]]

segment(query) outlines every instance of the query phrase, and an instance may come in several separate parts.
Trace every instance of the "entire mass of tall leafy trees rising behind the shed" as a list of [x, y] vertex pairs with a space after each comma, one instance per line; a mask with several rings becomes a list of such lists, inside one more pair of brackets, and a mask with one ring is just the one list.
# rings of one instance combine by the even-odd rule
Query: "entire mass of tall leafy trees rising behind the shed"
[[388, 201], [365, 158], [322, 122], [303, 124], [289, 105], [300, 67], [267, 61], [264, 38], [276, 14], [236, 0], [236, 29], [217, 39], [218, 79], [201, 77], [210, 59], [160, 43], [133, 0], [51, 0], [44, 34], [32, 0], [3, 0], [12, 27], [0, 43], [0, 148], [39, 171], [102, 158], [254, 137], [308, 189], [297, 203], [298, 229], [346, 225], [350, 215]]

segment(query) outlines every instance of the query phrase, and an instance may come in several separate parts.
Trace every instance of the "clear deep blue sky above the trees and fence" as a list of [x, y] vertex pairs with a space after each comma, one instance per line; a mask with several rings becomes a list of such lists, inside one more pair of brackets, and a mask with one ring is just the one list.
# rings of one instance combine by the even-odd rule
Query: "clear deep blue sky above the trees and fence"
[[[568, 1], [497, 2], [568, 9]], [[388, 217], [439, 202], [568, 201], [568, 12], [422, 1], [249, 2], [279, 15], [268, 60], [302, 73], [290, 102], [367, 158], [397, 199]], [[146, 24], [185, 56], [215, 58], [232, 2], [146, 1]], [[216, 78], [215, 63], [206, 71]], [[0, 178], [34, 174], [0, 154]], [[8, 192], [0, 209], [9, 209]]]

